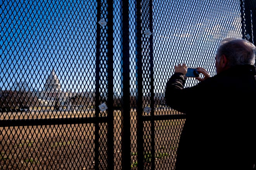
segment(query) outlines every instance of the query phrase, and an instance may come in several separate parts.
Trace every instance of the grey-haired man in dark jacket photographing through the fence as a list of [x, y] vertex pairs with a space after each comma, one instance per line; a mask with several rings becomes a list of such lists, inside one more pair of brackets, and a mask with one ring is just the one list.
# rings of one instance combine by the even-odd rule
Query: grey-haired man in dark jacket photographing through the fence
[[165, 100], [186, 114], [175, 170], [252, 170], [256, 163], [256, 47], [223, 39], [216, 52], [216, 75], [201, 67], [193, 87], [183, 88], [187, 66], [175, 66]]

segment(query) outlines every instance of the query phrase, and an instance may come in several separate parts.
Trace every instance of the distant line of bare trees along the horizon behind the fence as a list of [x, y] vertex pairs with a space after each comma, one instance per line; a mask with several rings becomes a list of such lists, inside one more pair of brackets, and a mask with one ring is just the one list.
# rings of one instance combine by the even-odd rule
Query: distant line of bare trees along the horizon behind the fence
[[[26, 90], [2, 90], [0, 91], [0, 111], [20, 111], [21, 109], [42, 107], [42, 106], [52, 106], [55, 110], [59, 110], [60, 107], [70, 106], [70, 107], [95, 107], [95, 92], [82, 92], [82, 93], [68, 93], [68, 96], [62, 93], [51, 97], [49, 100], [48, 93], [44, 92], [41, 96], [38, 93], [26, 91]], [[42, 100], [42, 96], [45, 100]], [[47, 100], [48, 99], [48, 100]], [[122, 97], [114, 93], [113, 96], [113, 107], [114, 109], [121, 109], [122, 107]], [[106, 95], [100, 95], [100, 103], [105, 102], [107, 104]], [[136, 95], [130, 95], [130, 107], [135, 108], [137, 102]], [[143, 97], [144, 105], [150, 105], [150, 95], [145, 95]], [[154, 104], [161, 105], [164, 104], [164, 96], [162, 94], [155, 94]]]

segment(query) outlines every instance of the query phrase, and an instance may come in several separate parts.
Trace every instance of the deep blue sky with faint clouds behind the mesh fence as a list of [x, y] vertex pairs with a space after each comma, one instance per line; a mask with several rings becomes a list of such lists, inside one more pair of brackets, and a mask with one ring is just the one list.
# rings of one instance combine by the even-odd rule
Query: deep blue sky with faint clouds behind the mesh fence
[[[235, 3], [235, 5], [233, 5]], [[136, 88], [135, 4], [130, 1], [130, 77]], [[232, 5], [230, 5], [232, 4]], [[104, 4], [103, 4], [104, 5]], [[145, 4], [144, 4], [145, 5]], [[121, 13], [114, 2], [114, 91], [121, 90]], [[145, 11], [144, 11], [145, 12]], [[52, 69], [64, 91], [95, 91], [96, 0], [2, 1], [0, 87], [13, 88], [26, 81], [42, 90]], [[146, 14], [145, 14], [146, 15]], [[102, 14], [102, 18], [106, 15]], [[149, 28], [147, 19], [143, 30]], [[153, 56], [155, 92], [162, 93], [174, 65], [205, 67], [214, 75], [214, 55], [220, 39], [242, 37], [239, 0], [154, 1]], [[102, 27], [102, 31], [104, 28]], [[104, 33], [104, 32], [103, 32]], [[104, 38], [102, 37], [102, 41]], [[146, 36], [143, 42], [148, 42]], [[105, 47], [102, 47], [105, 48]], [[143, 48], [145, 75], [149, 66], [147, 46]], [[105, 54], [103, 53], [102, 56]], [[102, 60], [102, 63], [106, 61]], [[148, 78], [145, 86], [148, 86]], [[103, 77], [103, 80], [104, 77]], [[195, 83], [192, 80], [192, 83]], [[145, 87], [147, 91], [147, 87]], [[145, 92], [148, 93], [148, 92]]]

